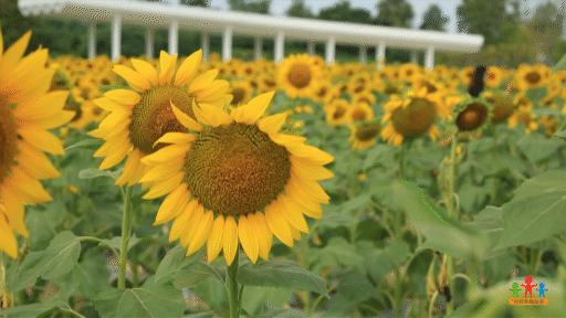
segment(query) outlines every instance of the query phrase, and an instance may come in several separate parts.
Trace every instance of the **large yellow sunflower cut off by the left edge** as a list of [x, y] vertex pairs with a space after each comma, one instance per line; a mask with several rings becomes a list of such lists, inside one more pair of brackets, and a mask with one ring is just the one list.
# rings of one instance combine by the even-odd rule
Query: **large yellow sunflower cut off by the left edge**
[[2, 52], [0, 32], [0, 252], [13, 258], [15, 233], [29, 235], [24, 204], [51, 201], [39, 180], [60, 176], [43, 152], [63, 155], [63, 146], [48, 129], [74, 116], [63, 110], [69, 92], [49, 92], [54, 70], [45, 67], [48, 50], [23, 56], [30, 36]]

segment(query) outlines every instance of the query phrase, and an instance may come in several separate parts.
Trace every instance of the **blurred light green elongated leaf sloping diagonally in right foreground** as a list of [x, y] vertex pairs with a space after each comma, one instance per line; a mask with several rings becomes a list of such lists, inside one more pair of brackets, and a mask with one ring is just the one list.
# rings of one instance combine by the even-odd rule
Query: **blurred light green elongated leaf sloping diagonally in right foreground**
[[485, 236], [470, 226], [453, 221], [437, 208], [431, 199], [411, 182], [392, 184], [397, 204], [427, 239], [423, 246], [457, 258], [481, 257], [486, 248]]

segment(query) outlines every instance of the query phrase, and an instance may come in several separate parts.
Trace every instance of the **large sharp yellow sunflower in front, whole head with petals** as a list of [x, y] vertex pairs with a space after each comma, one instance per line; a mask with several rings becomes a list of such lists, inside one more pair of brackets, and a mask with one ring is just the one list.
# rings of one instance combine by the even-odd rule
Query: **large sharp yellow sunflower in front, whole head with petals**
[[280, 131], [286, 115], [264, 117], [274, 93], [226, 113], [195, 105], [196, 120], [171, 103], [188, 132], [169, 132], [170, 144], [142, 161], [149, 166], [144, 198], [167, 195], [156, 224], [171, 221], [169, 240], [191, 255], [207, 244], [208, 262], [220, 251], [230, 265], [241, 244], [252, 263], [269, 258], [272, 237], [293, 246], [307, 233], [303, 214], [321, 218], [328, 195], [318, 184], [333, 177], [324, 168], [334, 158], [305, 138]]

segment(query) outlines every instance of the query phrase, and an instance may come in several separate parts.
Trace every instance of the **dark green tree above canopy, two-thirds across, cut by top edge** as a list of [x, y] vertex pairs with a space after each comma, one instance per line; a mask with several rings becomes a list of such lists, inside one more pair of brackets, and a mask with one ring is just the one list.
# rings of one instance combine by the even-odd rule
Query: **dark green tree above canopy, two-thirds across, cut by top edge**
[[410, 28], [412, 7], [406, 0], [380, 0], [377, 4], [377, 24], [398, 28]]

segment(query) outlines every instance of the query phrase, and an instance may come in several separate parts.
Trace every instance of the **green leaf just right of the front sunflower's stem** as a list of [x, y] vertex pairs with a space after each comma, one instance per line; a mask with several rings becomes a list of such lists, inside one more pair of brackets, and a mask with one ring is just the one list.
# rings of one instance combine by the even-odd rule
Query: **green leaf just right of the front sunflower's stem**
[[301, 289], [328, 296], [323, 278], [287, 261], [245, 264], [238, 272], [238, 282], [247, 286]]

